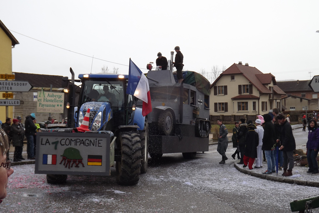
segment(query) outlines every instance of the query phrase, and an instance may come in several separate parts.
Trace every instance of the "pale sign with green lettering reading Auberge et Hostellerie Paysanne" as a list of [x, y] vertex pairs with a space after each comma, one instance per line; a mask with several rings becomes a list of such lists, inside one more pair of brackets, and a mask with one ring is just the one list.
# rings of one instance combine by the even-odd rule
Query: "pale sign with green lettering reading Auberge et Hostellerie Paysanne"
[[38, 92], [37, 113], [63, 113], [63, 92]]

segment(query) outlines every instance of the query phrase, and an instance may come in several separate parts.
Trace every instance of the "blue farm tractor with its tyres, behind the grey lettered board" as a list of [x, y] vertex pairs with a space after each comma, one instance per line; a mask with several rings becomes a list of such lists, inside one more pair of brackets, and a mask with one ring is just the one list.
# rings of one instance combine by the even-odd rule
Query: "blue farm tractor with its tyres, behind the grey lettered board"
[[[74, 81], [73, 71], [71, 73]], [[84, 132], [83, 126], [90, 130], [84, 134], [78, 133], [78, 138], [74, 140], [80, 139], [82, 135], [84, 137], [86, 133], [91, 135], [108, 133], [114, 145], [113, 147], [112, 143], [111, 146], [108, 145], [110, 153], [106, 153], [106, 156], [110, 156], [110, 166], [116, 166], [116, 180], [121, 185], [137, 184], [140, 173], [146, 173], [148, 162], [148, 122], [142, 115], [142, 109], [135, 107], [137, 98], [126, 93], [128, 77], [128, 75], [119, 74], [80, 74], [78, 76], [80, 80], [77, 80], [81, 83], [78, 104], [72, 104], [75, 102], [74, 92], [69, 97], [69, 101], [72, 101], [71, 105], [68, 103], [69, 110], [72, 110], [69, 115], [73, 114], [73, 116], [68, 115], [68, 128], [46, 130], [57, 132], [56, 134], [60, 136], [62, 132]], [[65, 81], [69, 80], [65, 79]], [[69, 86], [74, 88], [76, 85], [69, 83]], [[86, 115], [88, 109], [90, 110]], [[73, 119], [71, 120], [70, 117]], [[88, 149], [77, 149], [81, 156], [86, 156]], [[45, 154], [44, 152], [40, 149], [40, 155]], [[60, 157], [57, 158], [59, 162]], [[64, 156], [64, 158], [67, 157]], [[89, 161], [90, 158], [87, 159]], [[83, 158], [83, 161], [85, 160], [86, 158]], [[81, 167], [82, 170], [87, 169], [83, 174], [93, 175], [94, 173], [90, 173], [89, 168], [91, 167]], [[66, 174], [77, 174], [52, 171], [52, 174], [47, 174], [48, 183], [65, 182]]]

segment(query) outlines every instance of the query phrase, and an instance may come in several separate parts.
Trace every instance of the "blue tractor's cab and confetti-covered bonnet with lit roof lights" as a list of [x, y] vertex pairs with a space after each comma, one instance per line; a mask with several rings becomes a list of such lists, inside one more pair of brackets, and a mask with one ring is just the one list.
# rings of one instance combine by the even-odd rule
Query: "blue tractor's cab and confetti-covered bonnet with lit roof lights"
[[[78, 112], [75, 113], [79, 127], [90, 108], [89, 129], [111, 130], [121, 125], [133, 125], [135, 97], [126, 94], [128, 76], [116, 74], [79, 75], [82, 86]], [[144, 127], [144, 123], [143, 123]]]

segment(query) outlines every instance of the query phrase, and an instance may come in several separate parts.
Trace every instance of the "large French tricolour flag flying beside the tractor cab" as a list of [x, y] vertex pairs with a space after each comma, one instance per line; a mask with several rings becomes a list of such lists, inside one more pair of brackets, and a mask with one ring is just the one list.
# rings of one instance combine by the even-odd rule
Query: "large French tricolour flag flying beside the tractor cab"
[[143, 101], [142, 115], [146, 116], [152, 112], [150, 87], [146, 76], [130, 59], [129, 80], [127, 83], [127, 94], [134, 95]]

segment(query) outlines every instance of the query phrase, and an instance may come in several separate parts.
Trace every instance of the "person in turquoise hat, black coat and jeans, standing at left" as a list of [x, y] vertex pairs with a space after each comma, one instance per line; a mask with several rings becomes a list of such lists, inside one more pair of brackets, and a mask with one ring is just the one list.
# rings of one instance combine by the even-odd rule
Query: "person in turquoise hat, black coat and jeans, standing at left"
[[35, 159], [34, 156], [34, 136], [37, 130], [33, 120], [35, 120], [35, 114], [31, 113], [30, 115], [26, 116], [26, 121], [24, 122], [25, 126], [25, 134], [26, 134], [26, 153], [28, 159]]

